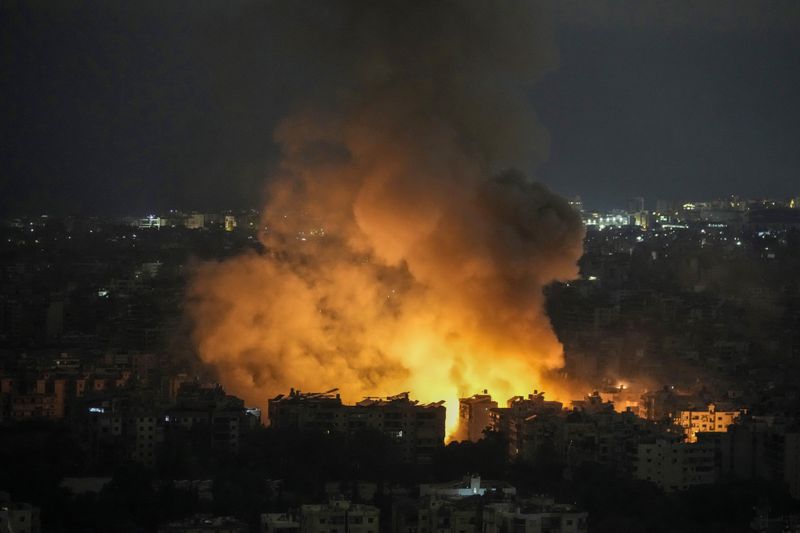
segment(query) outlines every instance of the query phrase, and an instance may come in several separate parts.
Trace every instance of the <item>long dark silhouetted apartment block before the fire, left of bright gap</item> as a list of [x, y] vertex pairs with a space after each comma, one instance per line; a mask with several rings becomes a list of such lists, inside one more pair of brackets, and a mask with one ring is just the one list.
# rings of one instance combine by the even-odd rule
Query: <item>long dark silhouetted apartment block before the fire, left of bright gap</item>
[[430, 463], [435, 451], [444, 445], [444, 402], [419, 404], [404, 392], [344, 405], [335, 392], [301, 393], [292, 389], [288, 396], [269, 400], [270, 425], [349, 436], [362, 429], [375, 429], [392, 439], [400, 459], [406, 463]]

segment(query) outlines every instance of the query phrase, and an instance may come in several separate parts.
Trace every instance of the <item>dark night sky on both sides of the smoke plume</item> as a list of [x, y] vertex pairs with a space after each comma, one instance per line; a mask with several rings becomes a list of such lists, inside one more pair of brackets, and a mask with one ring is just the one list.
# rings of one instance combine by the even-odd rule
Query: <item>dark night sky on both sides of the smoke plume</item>
[[[0, 213], [258, 207], [316, 83], [268, 6], [0, 3]], [[800, 194], [800, 3], [558, 2], [536, 175], [587, 206]], [[271, 12], [270, 12], [271, 13]], [[323, 69], [324, 70], [324, 69]]]

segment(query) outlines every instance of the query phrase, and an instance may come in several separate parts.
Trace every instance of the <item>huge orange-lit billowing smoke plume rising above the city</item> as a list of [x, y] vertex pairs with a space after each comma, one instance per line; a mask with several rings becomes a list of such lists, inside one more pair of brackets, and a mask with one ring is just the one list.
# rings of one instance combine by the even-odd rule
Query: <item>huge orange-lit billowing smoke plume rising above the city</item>
[[318, 84], [275, 132], [266, 252], [204, 264], [190, 288], [201, 358], [258, 405], [411, 391], [452, 421], [459, 395], [542, 388], [562, 365], [542, 289], [576, 275], [583, 237], [508, 170], [547, 152], [527, 95], [554, 61], [547, 18], [483, 0], [275, 13]]

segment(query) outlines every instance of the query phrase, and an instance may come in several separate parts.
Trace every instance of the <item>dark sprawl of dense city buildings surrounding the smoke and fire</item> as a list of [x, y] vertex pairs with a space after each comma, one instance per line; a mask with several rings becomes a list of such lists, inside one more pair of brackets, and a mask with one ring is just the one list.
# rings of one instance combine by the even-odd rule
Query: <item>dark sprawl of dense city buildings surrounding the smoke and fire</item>
[[[636, 515], [675, 529], [792, 523], [797, 203], [573, 206], [587, 224], [581, 276], [546, 292], [565, 350], [548, 379], [577, 392], [556, 400], [532, 383], [511, 398], [465, 391], [458, 405], [418, 403], [414, 391], [349, 403], [335, 389], [248, 404], [224, 390], [181, 320], [187, 269], [263, 252], [256, 212], [6, 220], [0, 524], [609, 531], [634, 511], [601, 499], [608, 491], [645, 507], [711, 502], [691, 519]], [[113, 516], [95, 516], [104, 508]]]

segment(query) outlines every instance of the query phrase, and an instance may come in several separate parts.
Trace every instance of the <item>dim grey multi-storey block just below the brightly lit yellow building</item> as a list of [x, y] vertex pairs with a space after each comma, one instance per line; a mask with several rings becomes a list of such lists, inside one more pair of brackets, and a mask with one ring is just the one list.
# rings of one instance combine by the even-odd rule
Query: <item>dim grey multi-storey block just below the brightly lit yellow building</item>
[[703, 443], [657, 439], [639, 443], [633, 466], [637, 479], [652, 481], [667, 492], [714, 483], [714, 448]]

